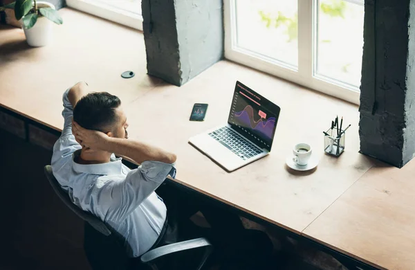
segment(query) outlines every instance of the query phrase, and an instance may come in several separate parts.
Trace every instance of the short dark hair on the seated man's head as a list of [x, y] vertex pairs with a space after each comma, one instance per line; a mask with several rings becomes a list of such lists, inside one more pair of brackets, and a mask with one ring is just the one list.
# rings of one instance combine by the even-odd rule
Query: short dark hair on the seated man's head
[[116, 108], [121, 100], [107, 92], [89, 93], [83, 96], [73, 109], [73, 120], [85, 129], [104, 130], [116, 123]]

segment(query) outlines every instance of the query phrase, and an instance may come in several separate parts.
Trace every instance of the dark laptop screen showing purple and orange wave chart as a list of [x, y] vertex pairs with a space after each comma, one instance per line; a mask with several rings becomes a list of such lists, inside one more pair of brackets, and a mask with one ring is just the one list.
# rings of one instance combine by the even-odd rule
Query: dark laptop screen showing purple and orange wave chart
[[241, 88], [234, 93], [229, 122], [269, 146], [273, 140], [277, 119], [261, 104], [259, 95]]

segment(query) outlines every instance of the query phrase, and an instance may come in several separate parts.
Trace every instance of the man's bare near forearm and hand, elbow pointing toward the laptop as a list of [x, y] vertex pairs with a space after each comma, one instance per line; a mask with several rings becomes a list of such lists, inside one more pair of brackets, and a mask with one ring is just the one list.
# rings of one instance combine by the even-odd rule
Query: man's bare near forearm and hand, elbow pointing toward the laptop
[[143, 161], [160, 161], [163, 163], [176, 162], [176, 155], [162, 150], [158, 147], [147, 145], [132, 139], [112, 138], [94, 130], [84, 129], [73, 122], [73, 133], [78, 141], [82, 141], [82, 146], [92, 150], [107, 151], [120, 156], [128, 156], [136, 163]]

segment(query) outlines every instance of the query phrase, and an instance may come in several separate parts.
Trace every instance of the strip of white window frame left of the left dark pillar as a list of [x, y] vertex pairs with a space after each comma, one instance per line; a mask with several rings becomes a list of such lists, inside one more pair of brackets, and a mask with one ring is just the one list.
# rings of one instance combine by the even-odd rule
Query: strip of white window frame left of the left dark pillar
[[98, 0], [66, 0], [66, 5], [70, 8], [142, 31], [141, 14], [122, 10], [105, 3], [99, 3]]

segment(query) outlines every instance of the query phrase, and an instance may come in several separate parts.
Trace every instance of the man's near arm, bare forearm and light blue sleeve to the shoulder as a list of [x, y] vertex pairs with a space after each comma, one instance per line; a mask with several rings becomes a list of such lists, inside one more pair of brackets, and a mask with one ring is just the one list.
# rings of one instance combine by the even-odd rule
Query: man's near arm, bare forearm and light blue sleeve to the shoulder
[[111, 181], [115, 176], [100, 177], [98, 204], [105, 220], [122, 221], [151, 195], [167, 175], [175, 177], [176, 155], [145, 143], [126, 138], [111, 138], [103, 132], [84, 129], [73, 122], [73, 133], [82, 146], [128, 156], [140, 166], [131, 170], [124, 181]]

